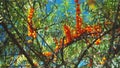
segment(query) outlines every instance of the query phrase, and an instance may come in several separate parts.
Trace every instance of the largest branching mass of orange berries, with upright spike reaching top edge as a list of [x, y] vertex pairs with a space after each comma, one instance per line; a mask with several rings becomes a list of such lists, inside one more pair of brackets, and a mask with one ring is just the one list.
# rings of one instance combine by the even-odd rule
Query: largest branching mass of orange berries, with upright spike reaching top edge
[[[76, 3], [76, 25], [75, 29], [71, 31], [70, 26], [64, 25], [64, 34], [65, 34], [65, 39], [62, 40], [60, 39], [60, 43], [56, 44], [55, 52], [59, 51], [59, 49], [62, 48], [62, 42], [64, 41], [64, 47], [70, 45], [71, 43], [80, 40], [82, 37], [85, 37], [86, 34], [91, 34], [92, 36], [99, 36], [100, 33], [102, 32], [101, 26], [98, 25], [93, 25], [93, 26], [87, 26], [87, 27], [82, 27], [82, 17], [80, 16], [81, 10], [80, 10], [80, 4], [78, 3], [78, 0], [75, 0]], [[100, 41], [100, 39], [98, 39]], [[96, 42], [96, 44], [99, 44], [99, 42]], [[56, 41], [55, 41], [56, 42]]]

